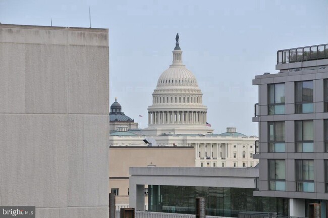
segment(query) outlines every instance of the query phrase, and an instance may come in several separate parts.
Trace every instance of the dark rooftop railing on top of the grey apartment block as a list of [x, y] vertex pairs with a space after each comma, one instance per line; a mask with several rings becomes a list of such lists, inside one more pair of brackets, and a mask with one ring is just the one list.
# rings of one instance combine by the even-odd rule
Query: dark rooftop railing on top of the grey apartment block
[[277, 51], [277, 64], [328, 59], [328, 44], [290, 48]]

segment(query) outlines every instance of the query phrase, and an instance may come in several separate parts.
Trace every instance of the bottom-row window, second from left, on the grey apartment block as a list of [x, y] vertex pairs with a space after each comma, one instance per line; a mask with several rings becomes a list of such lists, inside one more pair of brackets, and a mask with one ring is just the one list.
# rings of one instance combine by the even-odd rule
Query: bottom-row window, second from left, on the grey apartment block
[[314, 192], [313, 160], [295, 160], [296, 191]]

